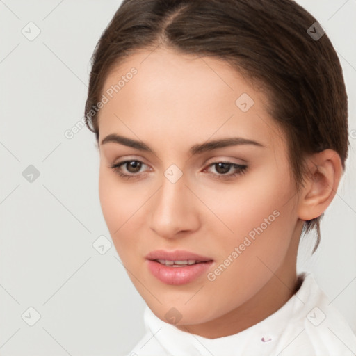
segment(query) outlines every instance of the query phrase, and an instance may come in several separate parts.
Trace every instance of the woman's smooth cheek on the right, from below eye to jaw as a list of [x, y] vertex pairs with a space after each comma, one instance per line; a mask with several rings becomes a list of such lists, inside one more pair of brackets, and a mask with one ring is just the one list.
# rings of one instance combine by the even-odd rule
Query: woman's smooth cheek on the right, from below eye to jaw
[[261, 284], [270, 275], [266, 266], [271, 270], [280, 266], [296, 223], [293, 194], [291, 181], [276, 170], [205, 195], [209, 197], [207, 205], [224, 223], [207, 219], [211, 235], [220, 236], [211, 241], [213, 250], [217, 251], [220, 263], [225, 264], [228, 258], [234, 260], [220, 277], [222, 284], [239, 275], [239, 285], [245, 284], [247, 291], [251, 280]]

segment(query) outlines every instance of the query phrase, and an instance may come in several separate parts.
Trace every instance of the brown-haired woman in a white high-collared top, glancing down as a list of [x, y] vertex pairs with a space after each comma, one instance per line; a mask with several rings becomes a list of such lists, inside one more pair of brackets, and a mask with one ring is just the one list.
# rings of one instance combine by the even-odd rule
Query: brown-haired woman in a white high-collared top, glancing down
[[296, 273], [345, 168], [347, 111], [330, 40], [291, 0], [122, 3], [86, 118], [104, 218], [147, 302], [130, 355], [356, 352]]

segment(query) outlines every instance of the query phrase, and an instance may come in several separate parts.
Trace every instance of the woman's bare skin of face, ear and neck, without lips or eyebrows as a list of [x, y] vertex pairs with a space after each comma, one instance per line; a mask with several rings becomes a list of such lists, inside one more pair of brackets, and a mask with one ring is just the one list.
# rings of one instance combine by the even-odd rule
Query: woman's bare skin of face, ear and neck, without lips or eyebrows
[[[299, 288], [296, 256], [303, 220], [320, 216], [341, 175], [332, 150], [310, 156], [310, 178], [296, 189], [284, 132], [266, 111], [266, 97], [227, 63], [168, 49], [142, 50], [108, 75], [103, 93], [131, 67], [138, 73], [99, 112], [99, 198], [106, 224], [131, 281], [150, 309], [175, 307], [180, 330], [214, 339], [258, 323]], [[247, 111], [235, 102], [254, 100]], [[155, 153], [102, 140], [116, 133], [142, 140]], [[257, 145], [233, 145], [191, 156], [196, 144], [241, 137]], [[143, 162], [138, 172], [122, 165]], [[241, 175], [220, 179], [212, 163], [247, 165]], [[172, 183], [170, 165], [181, 170]], [[227, 167], [227, 169], [229, 166]], [[230, 165], [227, 175], [236, 172]], [[152, 250], [188, 250], [214, 260], [213, 272], [273, 211], [279, 216], [216, 280], [203, 274], [191, 283], [164, 284], [147, 269]]]

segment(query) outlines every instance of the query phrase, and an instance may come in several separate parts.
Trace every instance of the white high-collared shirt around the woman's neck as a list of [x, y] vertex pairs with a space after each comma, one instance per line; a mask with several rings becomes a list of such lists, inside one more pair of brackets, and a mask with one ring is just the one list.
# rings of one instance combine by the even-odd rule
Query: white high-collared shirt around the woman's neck
[[263, 321], [237, 334], [207, 339], [161, 321], [149, 307], [145, 336], [130, 356], [351, 356], [356, 336], [318, 287], [311, 273], [300, 273], [300, 289]]

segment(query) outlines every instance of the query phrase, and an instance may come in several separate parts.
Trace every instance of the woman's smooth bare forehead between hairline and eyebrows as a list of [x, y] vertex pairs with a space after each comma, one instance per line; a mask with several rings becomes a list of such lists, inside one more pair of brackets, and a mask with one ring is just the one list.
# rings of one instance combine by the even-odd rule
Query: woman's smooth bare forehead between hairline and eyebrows
[[275, 145], [282, 138], [264, 95], [218, 58], [137, 51], [111, 71], [102, 94], [108, 102], [99, 111], [100, 138], [149, 134], [170, 137], [172, 145], [227, 135]]

